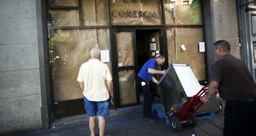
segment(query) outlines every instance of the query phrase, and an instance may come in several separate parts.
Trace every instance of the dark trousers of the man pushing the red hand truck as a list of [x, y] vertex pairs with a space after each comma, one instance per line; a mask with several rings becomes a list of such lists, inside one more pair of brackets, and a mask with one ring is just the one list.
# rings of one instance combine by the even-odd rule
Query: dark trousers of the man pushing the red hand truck
[[256, 100], [226, 102], [223, 135], [256, 135]]

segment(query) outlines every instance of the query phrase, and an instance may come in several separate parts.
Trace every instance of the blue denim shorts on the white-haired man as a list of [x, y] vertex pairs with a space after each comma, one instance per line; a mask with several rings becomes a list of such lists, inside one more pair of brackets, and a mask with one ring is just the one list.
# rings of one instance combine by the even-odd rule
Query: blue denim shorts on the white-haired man
[[83, 97], [85, 102], [85, 111], [88, 116], [96, 116], [98, 111], [98, 116], [108, 116], [109, 115], [109, 100], [101, 102], [93, 102]]

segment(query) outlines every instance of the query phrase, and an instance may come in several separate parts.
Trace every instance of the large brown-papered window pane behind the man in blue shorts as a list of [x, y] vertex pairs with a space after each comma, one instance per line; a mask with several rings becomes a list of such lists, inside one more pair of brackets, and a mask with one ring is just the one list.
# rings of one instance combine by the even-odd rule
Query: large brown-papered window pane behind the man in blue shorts
[[80, 65], [90, 59], [92, 47], [110, 49], [109, 30], [51, 30], [50, 36], [54, 101], [83, 98], [76, 81]]

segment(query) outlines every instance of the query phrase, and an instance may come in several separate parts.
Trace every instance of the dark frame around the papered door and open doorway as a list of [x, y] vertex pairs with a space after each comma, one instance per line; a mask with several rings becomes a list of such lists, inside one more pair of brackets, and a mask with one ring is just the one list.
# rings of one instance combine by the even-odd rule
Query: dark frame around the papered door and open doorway
[[[138, 62], [137, 62], [137, 41], [136, 41], [136, 30], [152, 30], [159, 32], [160, 37], [160, 54], [164, 55], [166, 57], [166, 62], [163, 64], [162, 69], [168, 68], [168, 51], [167, 51], [167, 41], [166, 41], [166, 30], [164, 27], [126, 27], [126, 28], [112, 28], [111, 29], [111, 62], [112, 62], [112, 74], [113, 74], [113, 85], [114, 85], [114, 105], [115, 108], [121, 108], [125, 106], [132, 106], [132, 105], [138, 105], [140, 104], [139, 99], [139, 85], [137, 82], [136, 84], [136, 97], [137, 97], [137, 103], [130, 104], [130, 105], [120, 105], [120, 93], [119, 93], [119, 75], [118, 72], [120, 70], [135, 70], [135, 74], [139, 73], [139, 70], [137, 68]], [[132, 32], [133, 33], [133, 44], [134, 44], [134, 66], [125, 66], [125, 67], [118, 67], [118, 52], [117, 52], [117, 43], [116, 43], [116, 33], [118, 32]]]

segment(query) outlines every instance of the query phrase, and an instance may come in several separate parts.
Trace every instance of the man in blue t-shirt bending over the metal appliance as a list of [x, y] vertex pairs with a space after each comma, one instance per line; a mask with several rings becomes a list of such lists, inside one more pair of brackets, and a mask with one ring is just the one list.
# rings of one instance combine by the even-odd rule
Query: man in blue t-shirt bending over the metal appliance
[[154, 74], [165, 74], [166, 70], [156, 70], [156, 66], [161, 66], [165, 62], [164, 55], [159, 55], [156, 58], [151, 58], [148, 60], [140, 69], [137, 74], [136, 81], [140, 85], [142, 92], [144, 94], [143, 102], [143, 118], [146, 121], [155, 122], [155, 119], [151, 118], [151, 106], [153, 102], [153, 92], [154, 90], [150, 87], [150, 82], [158, 83], [158, 80], [154, 77]]

